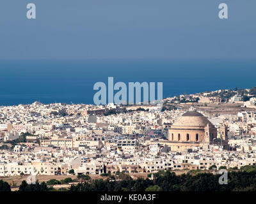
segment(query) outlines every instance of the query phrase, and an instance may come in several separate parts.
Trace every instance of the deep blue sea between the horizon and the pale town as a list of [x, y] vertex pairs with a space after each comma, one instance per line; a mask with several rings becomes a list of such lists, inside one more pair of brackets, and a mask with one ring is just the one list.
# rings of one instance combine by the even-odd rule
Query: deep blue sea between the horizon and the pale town
[[93, 85], [163, 82], [163, 97], [256, 86], [255, 60], [0, 61], [0, 105], [93, 103]]

